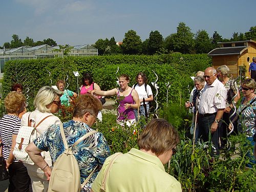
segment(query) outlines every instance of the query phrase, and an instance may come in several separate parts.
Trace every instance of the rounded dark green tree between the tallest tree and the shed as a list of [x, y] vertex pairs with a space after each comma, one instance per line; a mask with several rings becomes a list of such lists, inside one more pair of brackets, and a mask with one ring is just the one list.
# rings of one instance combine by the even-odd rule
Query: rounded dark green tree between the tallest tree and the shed
[[205, 30], [198, 30], [195, 38], [196, 53], [209, 53], [211, 50], [211, 40]]

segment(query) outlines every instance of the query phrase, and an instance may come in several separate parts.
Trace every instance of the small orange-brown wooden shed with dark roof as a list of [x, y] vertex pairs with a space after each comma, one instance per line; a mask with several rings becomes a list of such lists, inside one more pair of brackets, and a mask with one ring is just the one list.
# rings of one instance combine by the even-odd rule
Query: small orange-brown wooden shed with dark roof
[[217, 69], [219, 66], [226, 65], [233, 77], [240, 74], [239, 66], [245, 66], [246, 76], [250, 78], [248, 70], [252, 57], [256, 57], [256, 41], [218, 42], [218, 44], [220, 48], [208, 53], [212, 58], [212, 66]]

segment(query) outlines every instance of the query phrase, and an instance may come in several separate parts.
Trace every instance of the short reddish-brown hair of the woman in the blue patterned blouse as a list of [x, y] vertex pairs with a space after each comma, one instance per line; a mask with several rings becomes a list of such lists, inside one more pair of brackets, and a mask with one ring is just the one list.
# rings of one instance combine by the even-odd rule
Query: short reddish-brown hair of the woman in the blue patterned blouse
[[97, 116], [102, 108], [102, 103], [97, 97], [91, 94], [80, 95], [76, 99], [73, 117], [82, 118], [86, 113]]

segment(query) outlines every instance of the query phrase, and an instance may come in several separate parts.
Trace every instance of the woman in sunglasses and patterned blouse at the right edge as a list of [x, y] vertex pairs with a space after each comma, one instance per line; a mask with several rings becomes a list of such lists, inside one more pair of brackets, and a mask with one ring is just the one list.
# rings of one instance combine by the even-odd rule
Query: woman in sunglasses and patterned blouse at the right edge
[[[246, 138], [254, 146], [253, 135], [255, 134], [255, 112], [256, 112], [256, 82], [254, 79], [246, 79], [241, 83], [243, 98], [238, 108], [238, 130], [246, 134]], [[250, 163], [255, 163], [253, 157], [250, 157]], [[250, 164], [248, 164], [251, 167]]]

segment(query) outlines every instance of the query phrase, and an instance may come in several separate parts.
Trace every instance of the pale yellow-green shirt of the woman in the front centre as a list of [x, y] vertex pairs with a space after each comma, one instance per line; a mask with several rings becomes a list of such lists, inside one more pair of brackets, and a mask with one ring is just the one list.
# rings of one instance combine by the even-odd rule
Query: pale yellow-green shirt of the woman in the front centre
[[[104, 172], [111, 160], [112, 156], [105, 160], [92, 185], [94, 192], [100, 191]], [[164, 166], [158, 157], [132, 148], [130, 152], [119, 156], [113, 163], [106, 181], [105, 191], [181, 192], [182, 189], [180, 182], [165, 172]]]

